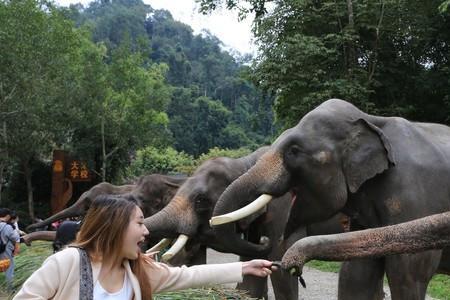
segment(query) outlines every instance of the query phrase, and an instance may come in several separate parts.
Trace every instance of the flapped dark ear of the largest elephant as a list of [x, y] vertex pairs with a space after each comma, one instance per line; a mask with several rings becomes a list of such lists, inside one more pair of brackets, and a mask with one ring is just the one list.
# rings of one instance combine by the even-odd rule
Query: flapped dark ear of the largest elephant
[[358, 119], [344, 150], [343, 169], [350, 192], [395, 165], [391, 144], [374, 124]]

